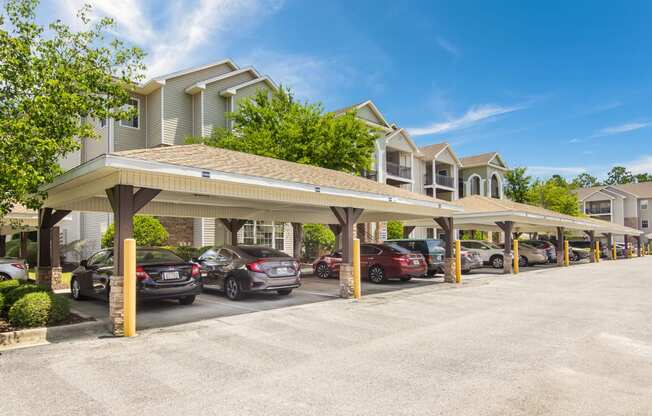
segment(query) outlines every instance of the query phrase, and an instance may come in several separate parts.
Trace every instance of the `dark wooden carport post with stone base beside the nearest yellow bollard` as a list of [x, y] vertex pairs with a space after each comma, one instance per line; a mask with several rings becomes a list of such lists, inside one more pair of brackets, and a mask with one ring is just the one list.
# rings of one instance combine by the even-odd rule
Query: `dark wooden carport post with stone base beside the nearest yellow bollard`
[[[158, 195], [160, 190], [140, 188], [134, 193], [132, 185], [115, 185], [106, 190], [113, 209], [115, 235], [113, 237], [113, 276], [109, 286], [109, 320], [113, 335], [125, 335], [124, 303], [124, 242], [133, 238], [134, 215]], [[133, 271], [135, 273], [135, 270]]]

